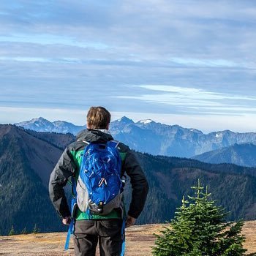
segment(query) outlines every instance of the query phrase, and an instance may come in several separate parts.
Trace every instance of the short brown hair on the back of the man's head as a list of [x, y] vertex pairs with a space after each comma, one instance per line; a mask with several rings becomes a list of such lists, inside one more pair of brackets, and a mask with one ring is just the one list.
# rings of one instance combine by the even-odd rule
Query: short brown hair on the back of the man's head
[[87, 125], [91, 129], [106, 129], [111, 115], [103, 107], [91, 107], [87, 113]]

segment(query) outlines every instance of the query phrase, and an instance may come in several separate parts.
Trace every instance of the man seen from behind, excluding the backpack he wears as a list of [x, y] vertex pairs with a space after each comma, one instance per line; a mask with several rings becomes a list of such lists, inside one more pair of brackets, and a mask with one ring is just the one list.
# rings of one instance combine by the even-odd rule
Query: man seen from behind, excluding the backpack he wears
[[[107, 143], [113, 140], [108, 132], [110, 113], [103, 107], [91, 107], [87, 113], [87, 129], [78, 134], [78, 140], [67, 146], [59, 162], [50, 175], [49, 192], [53, 206], [62, 217], [64, 225], [69, 225], [71, 214], [64, 194], [64, 186], [70, 177], [78, 180], [81, 155], [89, 143]], [[146, 201], [148, 183], [138, 160], [128, 146], [118, 143], [121, 156], [121, 176], [127, 174], [132, 184], [132, 200], [127, 212], [126, 227], [135, 224]], [[101, 256], [118, 256], [122, 246], [122, 223], [124, 204], [114, 208], [110, 214], [97, 215], [75, 212], [75, 255], [94, 256], [99, 241]]]

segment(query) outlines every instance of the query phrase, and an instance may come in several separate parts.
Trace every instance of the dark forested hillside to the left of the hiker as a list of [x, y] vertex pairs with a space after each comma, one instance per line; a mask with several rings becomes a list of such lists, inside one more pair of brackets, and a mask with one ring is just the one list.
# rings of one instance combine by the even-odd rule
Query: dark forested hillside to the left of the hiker
[[7, 234], [12, 225], [18, 233], [25, 227], [29, 232], [34, 225], [42, 231], [61, 230], [47, 189], [61, 150], [17, 127], [0, 129], [0, 233]]

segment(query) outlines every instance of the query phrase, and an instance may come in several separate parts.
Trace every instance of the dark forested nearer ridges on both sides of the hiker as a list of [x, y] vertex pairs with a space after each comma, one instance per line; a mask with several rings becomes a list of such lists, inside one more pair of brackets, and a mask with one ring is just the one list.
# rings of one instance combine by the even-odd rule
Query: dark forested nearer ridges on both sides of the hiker
[[[11, 226], [16, 232], [35, 224], [42, 232], [64, 230], [48, 197], [48, 180], [73, 135], [34, 132], [14, 125], [0, 125], [0, 233]], [[146, 173], [149, 193], [138, 224], [173, 218], [183, 195], [201, 183], [219, 205], [230, 211], [228, 219], [256, 219], [256, 169], [214, 165], [194, 159], [135, 153]], [[126, 186], [127, 207], [130, 185]]]

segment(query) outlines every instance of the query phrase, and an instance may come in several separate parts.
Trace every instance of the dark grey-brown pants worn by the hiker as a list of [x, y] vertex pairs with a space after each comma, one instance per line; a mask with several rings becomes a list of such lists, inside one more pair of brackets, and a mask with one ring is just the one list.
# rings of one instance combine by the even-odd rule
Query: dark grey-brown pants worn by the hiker
[[95, 256], [99, 241], [101, 256], [119, 256], [122, 219], [78, 220], [75, 222], [75, 256]]

